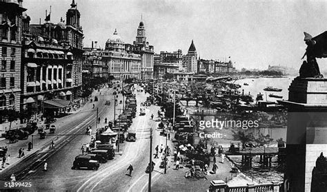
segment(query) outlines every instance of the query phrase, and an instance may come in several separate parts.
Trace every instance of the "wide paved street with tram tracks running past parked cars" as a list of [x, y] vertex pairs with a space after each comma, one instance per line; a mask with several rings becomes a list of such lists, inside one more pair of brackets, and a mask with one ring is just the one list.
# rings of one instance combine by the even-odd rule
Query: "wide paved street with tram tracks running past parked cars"
[[[40, 151], [37, 155], [29, 158], [28, 162], [20, 162], [2, 174], [6, 174], [5, 176], [8, 177], [12, 173], [12, 170], [17, 171], [26, 168], [32, 162], [37, 161], [42, 155], [45, 156], [42, 160], [48, 162], [48, 171], [43, 171], [43, 162], [40, 162], [38, 167], [29, 169], [28, 174], [23, 174], [23, 180], [30, 180], [32, 182], [32, 189], [37, 189], [38, 191], [49, 189], [70, 191], [104, 191], [108, 189], [110, 191], [147, 190], [148, 173], [145, 173], [145, 171], [149, 162], [150, 127], [153, 128], [152, 153], [155, 151], [155, 146], [159, 145], [160, 147], [161, 144], [166, 144], [166, 138], [159, 136], [159, 129], [157, 129], [159, 121], [155, 121], [157, 117], [153, 120], [150, 117], [151, 114], [157, 114], [159, 107], [147, 107], [146, 116], [139, 116], [141, 102], [146, 100], [148, 94], [144, 94], [144, 92], [135, 92], [135, 94], [137, 95], [137, 116], [133, 119], [128, 131], [135, 131], [137, 133], [137, 140], [136, 142], [125, 141], [121, 144], [120, 150], [122, 153], [116, 153], [114, 160], [109, 160], [101, 164], [99, 170], [71, 169], [75, 156], [81, 154], [81, 146], [90, 142], [90, 136], [84, 134], [85, 128], [91, 125], [93, 128], [92, 136], [95, 134], [96, 113], [86, 107], [78, 114], [73, 114], [69, 118], [57, 121], [61, 125], [61, 130], [57, 135], [60, 134], [61, 136], [58, 136], [59, 138], [55, 142], [57, 144], [56, 149], [49, 150], [46, 147], [46, 149]], [[99, 107], [99, 117], [101, 118], [101, 123], [97, 126], [103, 127], [104, 118], [107, 117], [108, 120], [113, 120], [114, 101], [112, 89], [106, 88], [104, 91], [101, 91], [101, 95], [97, 92], [97, 96], [99, 96], [99, 101], [95, 105]], [[112, 105], [104, 105], [108, 99], [112, 99]], [[121, 100], [121, 94], [119, 94], [118, 100]], [[92, 103], [88, 105], [92, 106]], [[121, 107], [121, 104], [117, 105], [116, 117], [119, 115], [119, 108]], [[68, 131], [69, 129], [71, 131]], [[63, 134], [65, 136], [62, 136]], [[159, 159], [152, 158], [152, 160], [156, 163], [155, 171], [152, 172], [152, 180], [155, 180], [164, 173], [164, 169], [159, 169], [161, 162], [160, 155]], [[132, 176], [126, 175], [129, 164], [132, 164], [134, 167]]]

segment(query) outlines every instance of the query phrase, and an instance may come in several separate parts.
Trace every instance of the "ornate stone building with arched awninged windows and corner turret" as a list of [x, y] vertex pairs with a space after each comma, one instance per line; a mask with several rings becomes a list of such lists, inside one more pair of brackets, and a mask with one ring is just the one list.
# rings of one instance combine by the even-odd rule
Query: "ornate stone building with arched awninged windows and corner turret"
[[74, 0], [70, 6], [66, 23], [30, 25], [23, 19], [21, 110], [59, 110], [79, 102], [83, 30]]

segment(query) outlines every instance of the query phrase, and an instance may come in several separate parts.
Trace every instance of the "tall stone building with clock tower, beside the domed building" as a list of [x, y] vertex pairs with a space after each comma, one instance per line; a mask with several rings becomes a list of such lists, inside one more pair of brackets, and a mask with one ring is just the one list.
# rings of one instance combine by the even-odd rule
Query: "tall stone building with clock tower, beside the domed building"
[[136, 41], [133, 42], [131, 50], [135, 54], [141, 55], [141, 79], [153, 79], [153, 56], [155, 52], [153, 50], [153, 46], [149, 45], [149, 42], [146, 41], [146, 29], [144, 28], [143, 21], [139, 23], [139, 28], [137, 28]]

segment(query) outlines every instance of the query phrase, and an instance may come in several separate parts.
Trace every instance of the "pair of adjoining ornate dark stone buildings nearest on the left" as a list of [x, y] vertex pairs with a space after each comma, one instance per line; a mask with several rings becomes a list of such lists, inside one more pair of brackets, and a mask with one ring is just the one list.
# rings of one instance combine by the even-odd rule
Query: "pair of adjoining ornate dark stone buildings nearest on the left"
[[66, 23], [31, 24], [22, 0], [0, 1], [0, 110], [61, 109], [79, 101], [83, 30], [72, 1]]

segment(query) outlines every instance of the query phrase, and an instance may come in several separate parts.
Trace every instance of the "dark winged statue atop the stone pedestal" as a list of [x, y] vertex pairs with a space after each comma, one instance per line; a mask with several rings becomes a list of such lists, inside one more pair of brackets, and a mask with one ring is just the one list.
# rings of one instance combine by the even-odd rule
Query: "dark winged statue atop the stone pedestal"
[[327, 32], [315, 37], [304, 32], [304, 41], [308, 47], [306, 47], [306, 53], [304, 54], [306, 61], [301, 65], [299, 76], [301, 78], [323, 78], [316, 58], [327, 57]]

